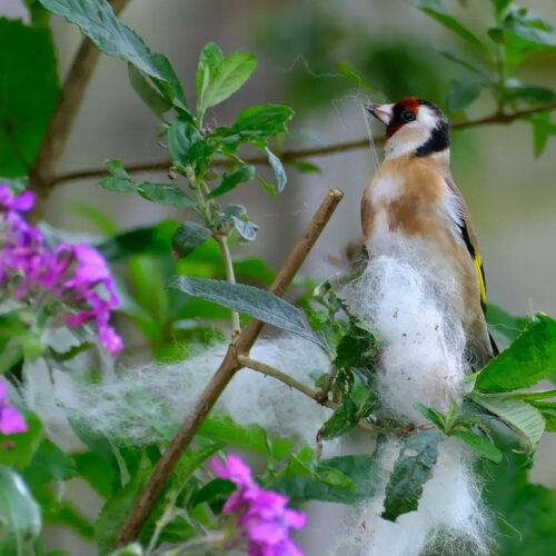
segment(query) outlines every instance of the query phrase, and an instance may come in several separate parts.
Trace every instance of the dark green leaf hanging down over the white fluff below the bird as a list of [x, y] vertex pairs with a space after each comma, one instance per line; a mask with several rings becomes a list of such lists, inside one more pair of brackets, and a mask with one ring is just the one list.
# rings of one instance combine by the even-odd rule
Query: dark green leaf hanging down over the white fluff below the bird
[[401, 514], [417, 509], [423, 485], [433, 475], [443, 437], [436, 430], [426, 430], [406, 439], [386, 485], [385, 519], [395, 522]]

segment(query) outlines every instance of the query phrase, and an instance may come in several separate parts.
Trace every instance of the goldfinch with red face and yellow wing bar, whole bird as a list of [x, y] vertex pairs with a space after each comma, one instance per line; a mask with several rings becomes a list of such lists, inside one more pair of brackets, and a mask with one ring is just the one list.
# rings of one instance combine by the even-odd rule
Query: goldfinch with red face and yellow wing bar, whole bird
[[417, 97], [365, 108], [386, 126], [384, 161], [361, 199], [367, 256], [409, 258], [447, 291], [447, 304], [466, 331], [468, 359], [480, 369], [498, 348], [486, 322], [477, 236], [450, 172], [448, 120], [436, 105]]

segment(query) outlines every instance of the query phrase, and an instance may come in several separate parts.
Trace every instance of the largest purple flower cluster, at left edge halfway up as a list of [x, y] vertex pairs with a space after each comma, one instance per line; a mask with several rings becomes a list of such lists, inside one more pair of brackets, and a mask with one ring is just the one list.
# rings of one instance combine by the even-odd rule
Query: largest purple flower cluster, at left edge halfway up
[[110, 270], [92, 247], [61, 244], [50, 248], [41, 231], [23, 218], [34, 205], [31, 191], [14, 195], [0, 185], [0, 285], [16, 299], [49, 292], [77, 309], [66, 317], [70, 328], [95, 322], [101, 344], [112, 354], [122, 348], [110, 326], [110, 311], [120, 304]]

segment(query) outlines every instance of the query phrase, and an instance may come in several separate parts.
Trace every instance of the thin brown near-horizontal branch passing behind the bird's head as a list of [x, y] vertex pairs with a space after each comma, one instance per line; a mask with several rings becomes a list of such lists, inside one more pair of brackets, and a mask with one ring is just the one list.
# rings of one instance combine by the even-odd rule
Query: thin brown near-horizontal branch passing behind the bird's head
[[[463, 129], [476, 128], [480, 126], [493, 126], [493, 125], [506, 125], [520, 118], [526, 118], [527, 116], [533, 116], [539, 112], [546, 112], [548, 110], [556, 110], [556, 102], [549, 105], [544, 105], [542, 107], [528, 108], [526, 110], [518, 110], [512, 113], [494, 113], [492, 116], [486, 116], [484, 118], [478, 118], [476, 120], [459, 121], [451, 126], [453, 131], [460, 131]], [[380, 136], [375, 139], [376, 145], [381, 145], [385, 141], [385, 137]], [[369, 146], [368, 137], [361, 139], [356, 139], [354, 141], [336, 142], [331, 145], [325, 145], [324, 147], [308, 147], [302, 149], [290, 149], [284, 150], [280, 153], [280, 159], [285, 162], [294, 160], [302, 160], [305, 158], [314, 157], [325, 157], [329, 155], [337, 155], [339, 152], [346, 152], [349, 150], [366, 149]], [[268, 165], [268, 158], [265, 157], [250, 157], [244, 160], [249, 165]], [[221, 161], [226, 165], [227, 161]], [[129, 173], [140, 173], [146, 171], [157, 171], [167, 170], [171, 166], [170, 160], [157, 160], [153, 162], [139, 162], [136, 165], [126, 166], [126, 170]], [[52, 185], [67, 183], [68, 181], [77, 181], [86, 178], [100, 178], [107, 173], [106, 168], [89, 168], [86, 170], [77, 170], [72, 172], [61, 173], [52, 180]]]

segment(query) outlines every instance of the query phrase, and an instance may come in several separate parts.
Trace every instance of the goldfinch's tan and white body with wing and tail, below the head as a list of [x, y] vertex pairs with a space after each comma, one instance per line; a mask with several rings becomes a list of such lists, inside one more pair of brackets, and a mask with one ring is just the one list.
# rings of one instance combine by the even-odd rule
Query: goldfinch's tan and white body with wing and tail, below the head
[[[406, 137], [414, 140], [419, 132], [415, 126]], [[469, 355], [483, 366], [494, 347], [484, 312], [485, 277], [469, 211], [449, 170], [449, 151], [418, 156], [418, 141], [406, 149], [403, 132], [393, 139], [386, 147], [395, 156], [386, 157], [363, 197], [368, 255], [401, 252], [449, 291], [448, 302], [467, 330]]]

